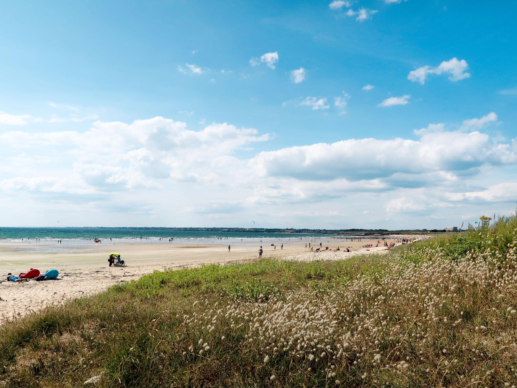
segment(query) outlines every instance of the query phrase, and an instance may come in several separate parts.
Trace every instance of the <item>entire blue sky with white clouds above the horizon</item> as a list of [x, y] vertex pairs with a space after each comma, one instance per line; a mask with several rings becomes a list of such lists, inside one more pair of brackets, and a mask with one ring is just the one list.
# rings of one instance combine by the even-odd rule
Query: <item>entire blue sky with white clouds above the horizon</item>
[[514, 210], [516, 4], [104, 3], [2, 5], [3, 225], [443, 228]]

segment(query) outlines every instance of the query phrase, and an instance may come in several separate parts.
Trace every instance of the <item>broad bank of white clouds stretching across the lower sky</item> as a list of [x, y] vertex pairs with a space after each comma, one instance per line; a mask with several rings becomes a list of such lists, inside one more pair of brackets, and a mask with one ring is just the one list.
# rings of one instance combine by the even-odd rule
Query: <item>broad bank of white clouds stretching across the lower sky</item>
[[[339, 97], [343, 100], [332, 103], [343, 109], [346, 94]], [[294, 103], [330, 108], [323, 97]], [[482, 128], [493, 124], [493, 118], [489, 113], [465, 125]], [[506, 203], [515, 193], [514, 184], [473, 190], [466, 183], [479, 187], [480, 172], [504, 166], [511, 170], [517, 164], [515, 142], [491, 138], [481, 129], [449, 130], [443, 123], [416, 130], [418, 140], [347, 139], [257, 154], [253, 147], [269, 135], [227, 123], [191, 130], [186, 123], [154, 117], [131, 123], [97, 121], [82, 131], [12, 129], [0, 132], [0, 148], [9, 153], [0, 198], [26, 195], [45, 206], [70, 201], [129, 211], [138, 200], [134, 209], [161, 215], [163, 201], [180, 196], [172, 201], [185, 206], [182, 214], [205, 220], [251, 210], [288, 213], [299, 211], [290, 207], [295, 204], [322, 202], [337, 206], [332, 211], [339, 215], [345, 208], [338, 203], [353, 203], [346, 213], [374, 211], [368, 220], [377, 222], [376, 215], [385, 211], [424, 214], [465, 203]], [[20, 148], [24, 152], [16, 154]], [[48, 176], [38, 175], [41, 169], [34, 165], [40, 162], [46, 163]], [[206, 192], [211, 201], [206, 201]], [[370, 201], [377, 205], [370, 206]]]

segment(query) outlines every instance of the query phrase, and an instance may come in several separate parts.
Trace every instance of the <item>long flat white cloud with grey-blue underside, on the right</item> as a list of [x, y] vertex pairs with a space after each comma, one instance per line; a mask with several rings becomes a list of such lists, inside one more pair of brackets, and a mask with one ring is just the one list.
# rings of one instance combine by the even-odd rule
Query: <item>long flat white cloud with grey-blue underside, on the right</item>
[[349, 181], [397, 173], [474, 173], [484, 165], [517, 163], [509, 144], [494, 144], [480, 132], [424, 133], [420, 140], [349, 139], [261, 152], [250, 161], [260, 176]]

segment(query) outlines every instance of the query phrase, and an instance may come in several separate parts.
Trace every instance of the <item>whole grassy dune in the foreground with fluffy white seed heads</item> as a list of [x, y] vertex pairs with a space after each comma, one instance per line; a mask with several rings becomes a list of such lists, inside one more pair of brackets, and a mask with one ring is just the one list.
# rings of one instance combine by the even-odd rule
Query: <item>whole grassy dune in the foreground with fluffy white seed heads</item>
[[517, 385], [515, 228], [157, 271], [0, 327], [0, 387]]

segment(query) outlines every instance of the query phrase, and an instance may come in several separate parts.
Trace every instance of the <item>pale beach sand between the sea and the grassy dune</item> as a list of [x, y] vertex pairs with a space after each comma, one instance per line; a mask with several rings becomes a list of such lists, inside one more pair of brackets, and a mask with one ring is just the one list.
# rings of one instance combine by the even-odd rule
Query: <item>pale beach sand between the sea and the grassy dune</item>
[[[352, 247], [352, 252], [322, 251], [311, 252], [305, 244], [311, 240], [280, 241], [263, 240], [262, 243], [224, 243], [203, 244], [150, 241], [118, 241], [110, 244], [109, 240], [101, 244], [93, 242], [69, 242], [58, 245], [55, 242], [40, 243], [0, 243], [0, 278], [4, 279], [10, 272], [18, 275], [29, 268], [37, 268], [42, 273], [55, 268], [59, 271], [58, 280], [26, 282], [0, 282], [0, 322], [21, 317], [31, 311], [49, 305], [66, 303], [71, 299], [101, 292], [118, 283], [138, 279], [142, 275], [161, 271], [165, 268], [184, 268], [208, 263], [231, 263], [258, 257], [258, 247], [263, 246], [263, 257], [281, 257], [287, 260], [339, 260], [357, 253], [387, 252], [384, 247], [362, 248], [364, 244], [377, 239], [364, 241], [347, 241], [338, 238], [322, 238], [312, 244], [322, 242], [323, 249]], [[387, 238], [388, 243], [395, 241]], [[273, 249], [270, 244], [276, 244]], [[231, 245], [228, 252], [227, 246]], [[110, 252], [118, 252], [126, 261], [125, 267], [109, 267]], [[67, 276], [65, 276], [67, 275]]]

